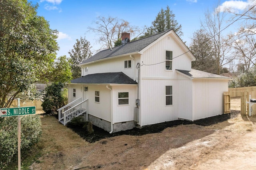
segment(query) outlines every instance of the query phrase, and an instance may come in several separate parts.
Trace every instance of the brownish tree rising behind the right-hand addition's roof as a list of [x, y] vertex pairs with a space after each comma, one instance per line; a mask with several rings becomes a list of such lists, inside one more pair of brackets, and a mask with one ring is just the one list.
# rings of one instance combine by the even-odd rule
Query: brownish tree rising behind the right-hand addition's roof
[[213, 42], [210, 36], [203, 29], [199, 29], [194, 32], [191, 40], [190, 50], [196, 57], [196, 61], [192, 62], [192, 68], [216, 74], [215, 60], [212, 57]]

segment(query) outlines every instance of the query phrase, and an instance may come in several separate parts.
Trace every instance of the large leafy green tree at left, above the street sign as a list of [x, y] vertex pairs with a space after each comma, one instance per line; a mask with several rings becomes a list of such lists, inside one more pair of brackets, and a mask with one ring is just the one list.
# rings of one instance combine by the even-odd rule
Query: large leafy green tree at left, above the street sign
[[38, 16], [38, 5], [26, 0], [0, 1], [0, 107], [9, 107], [38, 81], [56, 81], [51, 74], [58, 31]]

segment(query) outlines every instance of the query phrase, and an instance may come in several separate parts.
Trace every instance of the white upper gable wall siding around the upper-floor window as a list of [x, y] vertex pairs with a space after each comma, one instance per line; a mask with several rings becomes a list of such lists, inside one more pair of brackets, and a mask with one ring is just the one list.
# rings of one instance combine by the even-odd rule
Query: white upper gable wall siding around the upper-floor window
[[175, 77], [175, 69], [191, 70], [191, 59], [188, 57], [188, 54], [181, 55], [172, 60], [172, 71], [165, 70], [166, 50], [172, 51], [173, 58], [186, 52], [178, 45], [172, 34], [169, 34], [143, 52], [141, 61], [145, 65], [141, 66], [141, 76]]

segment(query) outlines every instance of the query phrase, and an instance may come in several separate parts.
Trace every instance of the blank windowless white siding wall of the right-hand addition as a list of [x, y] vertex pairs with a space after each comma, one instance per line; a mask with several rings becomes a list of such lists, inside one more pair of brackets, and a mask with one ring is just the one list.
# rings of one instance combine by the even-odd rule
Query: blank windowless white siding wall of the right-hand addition
[[193, 79], [192, 121], [223, 114], [223, 92], [228, 91], [228, 80]]

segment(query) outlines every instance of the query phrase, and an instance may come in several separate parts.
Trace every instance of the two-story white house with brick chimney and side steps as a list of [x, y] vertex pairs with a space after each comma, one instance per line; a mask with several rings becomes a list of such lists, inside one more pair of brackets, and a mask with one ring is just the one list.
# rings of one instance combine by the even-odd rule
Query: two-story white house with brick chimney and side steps
[[122, 45], [80, 64], [82, 77], [68, 84], [70, 104], [59, 109], [59, 121], [86, 113], [86, 119], [112, 133], [223, 114], [230, 78], [192, 69], [196, 58], [172, 29], [129, 39], [123, 33]]

